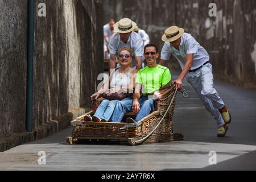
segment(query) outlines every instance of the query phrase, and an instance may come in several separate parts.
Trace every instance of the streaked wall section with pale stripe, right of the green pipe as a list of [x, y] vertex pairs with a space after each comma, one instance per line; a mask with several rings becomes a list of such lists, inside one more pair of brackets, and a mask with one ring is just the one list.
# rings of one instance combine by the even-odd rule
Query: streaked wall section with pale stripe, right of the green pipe
[[[69, 110], [90, 105], [96, 76], [103, 70], [102, 28], [96, 1], [45, 2], [36, 16], [34, 121], [36, 127]], [[96, 47], [98, 48], [96, 49]]]

